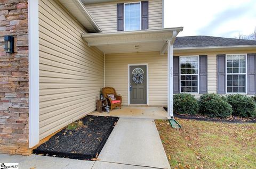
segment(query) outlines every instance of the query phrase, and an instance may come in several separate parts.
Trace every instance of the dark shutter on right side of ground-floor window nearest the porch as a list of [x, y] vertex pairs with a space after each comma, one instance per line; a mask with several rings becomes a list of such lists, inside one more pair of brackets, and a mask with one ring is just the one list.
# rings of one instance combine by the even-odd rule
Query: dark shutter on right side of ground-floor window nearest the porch
[[207, 94], [207, 56], [199, 56], [199, 94]]

